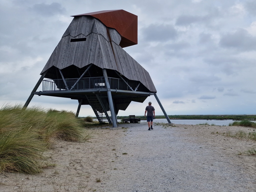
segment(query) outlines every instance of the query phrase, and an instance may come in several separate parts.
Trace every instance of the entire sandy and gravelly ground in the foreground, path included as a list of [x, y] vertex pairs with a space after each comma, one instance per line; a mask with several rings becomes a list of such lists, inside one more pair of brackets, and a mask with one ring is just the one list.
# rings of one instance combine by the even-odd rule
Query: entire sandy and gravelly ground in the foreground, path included
[[[120, 124], [88, 129], [90, 142], [58, 142], [39, 175], [0, 174], [0, 191], [256, 191], [256, 142], [226, 137], [250, 127]], [[123, 154], [127, 153], [127, 154]], [[96, 182], [96, 180], [100, 182]]]

